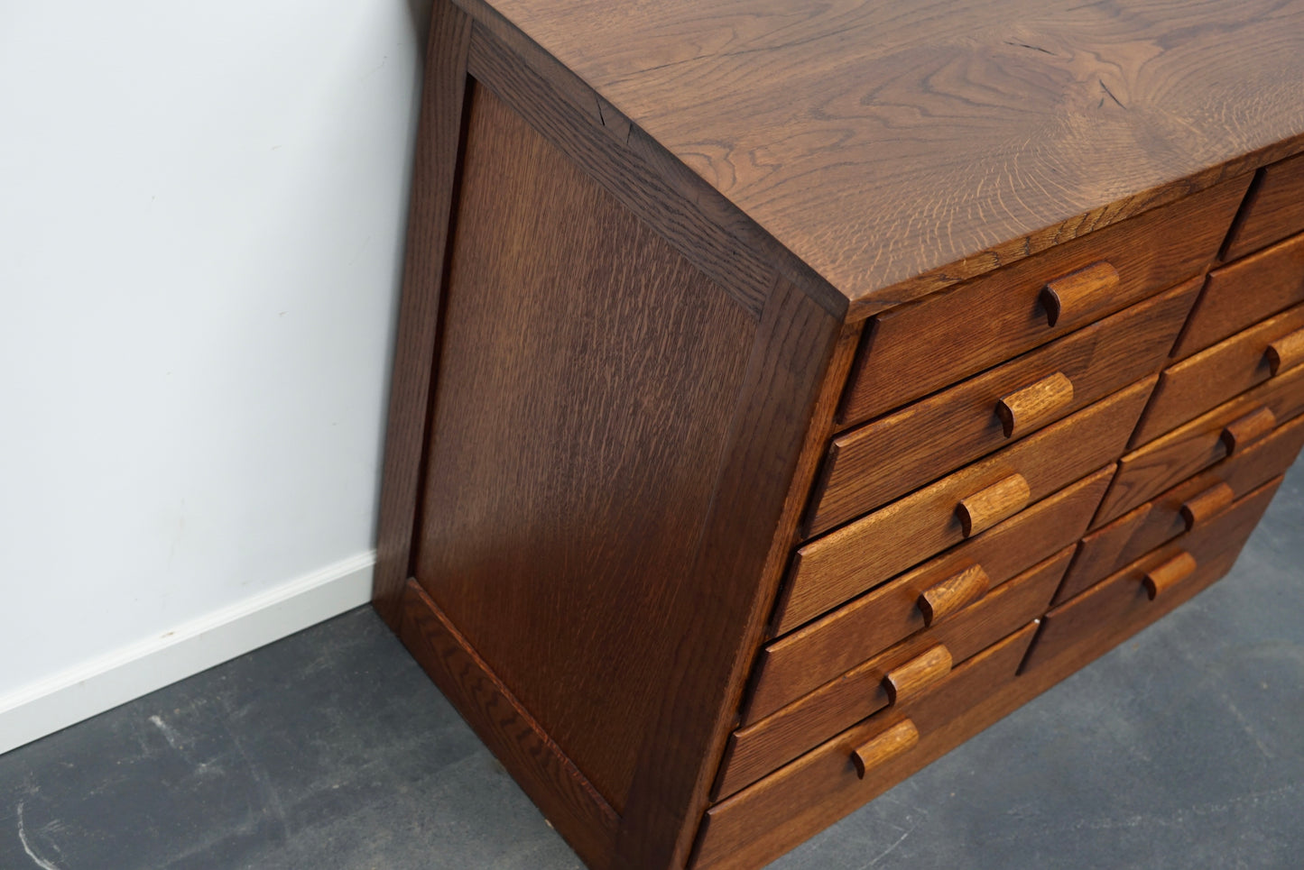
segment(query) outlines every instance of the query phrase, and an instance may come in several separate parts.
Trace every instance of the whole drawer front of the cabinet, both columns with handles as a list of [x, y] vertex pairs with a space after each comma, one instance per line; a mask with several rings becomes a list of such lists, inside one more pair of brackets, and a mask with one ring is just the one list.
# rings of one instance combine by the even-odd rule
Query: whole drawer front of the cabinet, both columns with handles
[[1304, 160], [1248, 181], [872, 320], [694, 866], [1226, 573], [1304, 444]]

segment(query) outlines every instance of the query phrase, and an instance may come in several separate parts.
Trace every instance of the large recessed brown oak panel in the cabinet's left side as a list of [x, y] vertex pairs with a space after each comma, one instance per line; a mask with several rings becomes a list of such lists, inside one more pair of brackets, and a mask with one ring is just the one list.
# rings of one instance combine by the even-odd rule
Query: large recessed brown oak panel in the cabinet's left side
[[416, 580], [619, 813], [756, 322], [472, 94]]

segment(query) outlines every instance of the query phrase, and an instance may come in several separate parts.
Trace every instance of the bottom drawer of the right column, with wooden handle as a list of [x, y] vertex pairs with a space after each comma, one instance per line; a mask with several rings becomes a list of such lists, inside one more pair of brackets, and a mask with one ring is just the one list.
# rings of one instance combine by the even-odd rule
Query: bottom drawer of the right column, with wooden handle
[[1236, 560], [1281, 482], [1281, 477], [1274, 478], [1237, 499], [1204, 527], [1151, 551], [1051, 610], [1042, 620], [1022, 671], [1112, 645], [1119, 633], [1146, 620], [1153, 604], [1189, 596], [1215, 581]]

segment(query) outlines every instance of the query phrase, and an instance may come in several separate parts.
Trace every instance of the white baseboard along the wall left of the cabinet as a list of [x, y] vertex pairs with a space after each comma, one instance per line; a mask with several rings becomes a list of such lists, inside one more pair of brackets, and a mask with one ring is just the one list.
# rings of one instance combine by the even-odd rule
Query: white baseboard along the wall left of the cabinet
[[252, 595], [0, 697], [0, 753], [365, 604], [376, 552]]

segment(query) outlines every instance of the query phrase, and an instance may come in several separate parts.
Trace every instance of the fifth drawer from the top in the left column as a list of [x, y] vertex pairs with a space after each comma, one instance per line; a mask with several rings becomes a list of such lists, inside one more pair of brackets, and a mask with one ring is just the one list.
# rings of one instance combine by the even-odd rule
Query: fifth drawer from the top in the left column
[[758, 698], [797, 699], [730, 735], [717, 793], [732, 794], [875, 711], [901, 706], [944, 679], [953, 664], [1041, 616], [1072, 556], [1073, 547], [1065, 547], [955, 619], [902, 641], [824, 685], [816, 684], [818, 688], [801, 697], [797, 695], [807, 682], [803, 667], [823, 669], [824, 662], [810, 655], [777, 659], [780, 667], [763, 672], [758, 690], [765, 694]]

